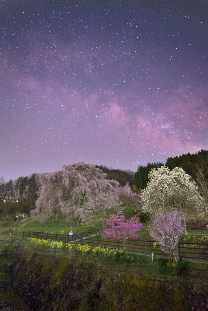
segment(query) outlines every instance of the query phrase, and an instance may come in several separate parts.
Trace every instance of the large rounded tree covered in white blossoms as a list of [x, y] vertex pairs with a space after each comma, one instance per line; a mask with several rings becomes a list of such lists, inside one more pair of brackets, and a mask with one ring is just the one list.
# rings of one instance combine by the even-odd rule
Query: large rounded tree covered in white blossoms
[[143, 210], [154, 216], [161, 207], [164, 211], [177, 208], [184, 218], [185, 234], [186, 219], [208, 211], [196, 183], [190, 180], [191, 176], [183, 169], [176, 167], [171, 171], [168, 167], [161, 166], [150, 171], [149, 179], [142, 193]]

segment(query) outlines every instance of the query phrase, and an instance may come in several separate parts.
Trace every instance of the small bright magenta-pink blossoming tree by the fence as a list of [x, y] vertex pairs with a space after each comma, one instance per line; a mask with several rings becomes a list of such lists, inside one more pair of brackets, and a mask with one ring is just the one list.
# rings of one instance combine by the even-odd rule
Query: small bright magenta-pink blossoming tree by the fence
[[124, 250], [127, 256], [126, 240], [128, 238], [137, 239], [141, 235], [136, 234], [143, 225], [138, 223], [135, 217], [126, 219], [123, 215], [112, 214], [109, 219], [105, 219], [106, 229], [103, 237], [108, 239], [118, 239], [124, 244]]

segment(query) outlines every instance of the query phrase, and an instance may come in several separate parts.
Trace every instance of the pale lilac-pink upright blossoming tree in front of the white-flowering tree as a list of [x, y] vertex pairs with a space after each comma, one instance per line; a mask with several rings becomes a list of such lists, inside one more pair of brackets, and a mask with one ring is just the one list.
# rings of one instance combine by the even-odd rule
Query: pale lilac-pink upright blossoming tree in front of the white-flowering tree
[[160, 245], [164, 253], [177, 262], [177, 244], [184, 231], [181, 213], [177, 209], [164, 212], [160, 208], [152, 220], [152, 226], [149, 231], [151, 237]]

